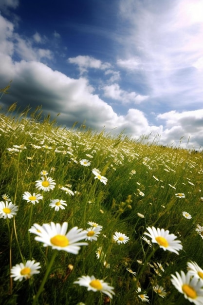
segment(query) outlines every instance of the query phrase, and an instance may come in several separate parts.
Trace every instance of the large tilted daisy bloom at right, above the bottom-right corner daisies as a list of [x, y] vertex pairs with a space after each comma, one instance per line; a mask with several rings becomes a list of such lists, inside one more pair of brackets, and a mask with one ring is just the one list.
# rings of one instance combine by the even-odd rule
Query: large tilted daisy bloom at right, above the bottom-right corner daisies
[[180, 244], [180, 240], [175, 240], [177, 236], [174, 234], [169, 234], [168, 230], [165, 229], [155, 229], [154, 227], [147, 228], [148, 232], [145, 232], [145, 235], [148, 235], [151, 238], [152, 243], [156, 243], [159, 245], [160, 248], [164, 249], [165, 251], [168, 250], [170, 252], [174, 252], [179, 254], [178, 251], [183, 248]]

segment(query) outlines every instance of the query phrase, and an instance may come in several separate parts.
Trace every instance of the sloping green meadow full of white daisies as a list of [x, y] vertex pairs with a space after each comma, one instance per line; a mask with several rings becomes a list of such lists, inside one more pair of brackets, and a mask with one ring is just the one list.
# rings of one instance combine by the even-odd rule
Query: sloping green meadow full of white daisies
[[203, 153], [41, 115], [0, 114], [1, 304], [203, 304]]

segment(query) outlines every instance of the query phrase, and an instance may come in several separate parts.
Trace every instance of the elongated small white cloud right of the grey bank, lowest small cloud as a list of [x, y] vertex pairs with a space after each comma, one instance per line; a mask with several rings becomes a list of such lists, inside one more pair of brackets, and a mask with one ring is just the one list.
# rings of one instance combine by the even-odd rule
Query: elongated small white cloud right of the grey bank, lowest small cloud
[[135, 92], [128, 92], [122, 90], [120, 89], [120, 86], [116, 83], [109, 86], [104, 86], [103, 90], [104, 90], [104, 96], [121, 101], [124, 104], [127, 103], [140, 104], [141, 102], [143, 102], [148, 98], [148, 96], [146, 95], [139, 95]]

